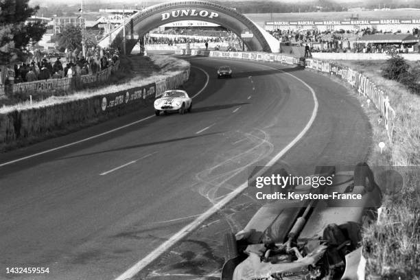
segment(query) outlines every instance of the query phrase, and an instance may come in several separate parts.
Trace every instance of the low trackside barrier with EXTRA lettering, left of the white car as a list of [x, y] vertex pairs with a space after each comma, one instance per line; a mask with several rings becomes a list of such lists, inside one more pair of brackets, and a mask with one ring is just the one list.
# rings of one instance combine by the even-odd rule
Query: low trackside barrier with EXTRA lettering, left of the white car
[[166, 79], [115, 93], [0, 113], [0, 143], [43, 137], [47, 131], [83, 124], [91, 119], [109, 119], [138, 110], [140, 106], [150, 106], [156, 95], [187, 82], [189, 71], [188, 67]]

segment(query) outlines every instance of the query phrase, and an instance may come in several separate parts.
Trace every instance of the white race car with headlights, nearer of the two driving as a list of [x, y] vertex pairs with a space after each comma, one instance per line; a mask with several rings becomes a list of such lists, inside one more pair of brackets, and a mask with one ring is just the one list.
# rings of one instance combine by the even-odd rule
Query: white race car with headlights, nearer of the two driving
[[179, 89], [165, 91], [160, 98], [154, 100], [154, 113], [156, 116], [161, 115], [161, 112], [166, 114], [176, 111], [183, 115], [185, 110], [191, 112], [192, 100], [185, 91]]

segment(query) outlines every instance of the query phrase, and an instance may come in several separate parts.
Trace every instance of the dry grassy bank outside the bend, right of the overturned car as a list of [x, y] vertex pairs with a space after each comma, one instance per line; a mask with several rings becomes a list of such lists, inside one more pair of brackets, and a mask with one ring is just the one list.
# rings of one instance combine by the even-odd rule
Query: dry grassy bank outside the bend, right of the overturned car
[[[399, 82], [382, 77], [385, 61], [336, 61], [364, 73], [390, 99], [396, 113], [393, 143], [387, 141], [384, 123], [374, 106], [367, 108], [359, 96], [373, 128], [371, 166], [401, 166], [404, 178], [401, 191], [384, 196], [380, 222], [364, 229], [366, 274], [382, 279], [420, 279], [420, 96], [412, 94]], [[417, 66], [417, 62], [410, 62]], [[351, 89], [351, 86], [349, 86]], [[353, 94], [355, 91], [351, 90]], [[384, 141], [382, 154], [377, 143]], [[416, 167], [409, 167], [416, 166]]]

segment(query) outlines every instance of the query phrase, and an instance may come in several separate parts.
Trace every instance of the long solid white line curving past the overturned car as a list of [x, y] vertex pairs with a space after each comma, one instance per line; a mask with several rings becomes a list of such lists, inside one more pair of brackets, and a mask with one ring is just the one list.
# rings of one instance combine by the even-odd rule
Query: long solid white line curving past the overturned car
[[[262, 65], [262, 66], [268, 67], [266, 65]], [[282, 71], [280, 69], [276, 69], [274, 67], [268, 67], [268, 68], [275, 69], [277, 71], [281, 71], [282, 73], [285, 73], [286, 75], [290, 75], [291, 77], [295, 78], [299, 82], [303, 83], [308, 89], [310, 89], [310, 91], [312, 93], [312, 98], [314, 99], [314, 110], [312, 110], [312, 115], [310, 117], [310, 120], [307, 122], [305, 128], [303, 128], [303, 130], [299, 133], [299, 135], [297, 135], [288, 145], [286, 145], [285, 148], [283, 148], [283, 150], [281, 150], [278, 154], [276, 154], [259, 172], [257, 172], [254, 175], [253, 178], [255, 178], [257, 176], [261, 176], [262, 174], [264, 174], [264, 172], [266, 172], [268, 170], [268, 168], [270, 168], [273, 164], [275, 164], [276, 161], [278, 161], [281, 158], [281, 156], [283, 156], [299, 140], [301, 140], [302, 137], [306, 134], [306, 132], [310, 129], [310, 127], [314, 123], [314, 120], [316, 118], [316, 114], [318, 113], [318, 100], [316, 98], [315, 91], [314, 91], [314, 89], [312, 89], [311, 86], [309, 86], [306, 82], [304, 82], [300, 78], [297, 78], [295, 75], [292, 75], [290, 73], [286, 73], [285, 71]], [[215, 205], [213, 205], [211, 208], [209, 208], [207, 211], [205, 211], [205, 213], [202, 213], [202, 215], [200, 215], [198, 218], [196, 218], [196, 220], [194, 220], [190, 224], [187, 224], [187, 226], [184, 226], [183, 229], [180, 229], [180, 231], [178, 231], [177, 233], [172, 235], [172, 237], [170, 237], [170, 239], [166, 240], [160, 246], [158, 246], [156, 249], [152, 250], [152, 252], [150, 252], [147, 256], [143, 257], [143, 259], [139, 260], [131, 268], [128, 268], [128, 270], [126, 270], [126, 272], [119, 275], [119, 277], [117, 277], [115, 280], [127, 280], [127, 279], [130, 279], [130, 278], [134, 277], [135, 275], [137, 275], [137, 273], [139, 273], [139, 271], [143, 270], [143, 268], [145, 268], [146, 266], [151, 264], [152, 261], [154, 261], [159, 256], [161, 256], [163, 253], [165, 253], [167, 249], [174, 246], [174, 244], [176, 244], [176, 242], [178, 242], [179, 240], [182, 240], [185, 236], [187, 236], [189, 233], [191, 233], [191, 231], [194, 231], [194, 229], [196, 229], [198, 226], [200, 226], [200, 224], [202, 224], [202, 222], [204, 222], [205, 220], [210, 218], [211, 215], [213, 215], [214, 213], [217, 213], [217, 211], [219, 211], [220, 209], [222, 209], [222, 207], [224, 207], [226, 204], [231, 202], [231, 200], [233, 200], [233, 198], [235, 198], [237, 195], [241, 194], [242, 191], [244, 191], [244, 189], [246, 189], [247, 187], [248, 187], [248, 181], [246, 181], [245, 183], [243, 183], [242, 185], [240, 185], [239, 187], [234, 189], [231, 193], [227, 194], [222, 200], [217, 202]]]

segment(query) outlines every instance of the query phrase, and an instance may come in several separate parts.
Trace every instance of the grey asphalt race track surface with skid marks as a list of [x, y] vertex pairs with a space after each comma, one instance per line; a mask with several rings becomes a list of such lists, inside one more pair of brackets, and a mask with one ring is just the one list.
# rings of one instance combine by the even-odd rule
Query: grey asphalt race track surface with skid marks
[[[371, 145], [369, 121], [358, 101], [340, 84], [316, 73], [270, 63], [187, 59], [194, 66], [185, 86], [189, 95], [205, 84], [202, 70], [210, 79], [194, 98], [193, 113], [151, 117], [102, 137], [0, 167], [0, 279], [115, 279], [244, 183], [253, 167], [266, 165], [299, 135], [314, 108], [307, 86], [277, 69], [305, 81], [319, 103], [310, 130], [279, 162], [292, 172], [307, 174], [315, 165], [350, 165], [366, 159]], [[233, 68], [233, 78], [218, 80], [215, 69], [226, 64]], [[0, 164], [153, 113], [150, 106], [1, 154]], [[252, 211], [220, 215], [213, 228], [191, 233], [191, 238], [220, 249], [218, 242], [209, 240], [244, 226], [257, 203], [244, 192], [229, 207], [237, 205], [248, 205]], [[183, 246], [183, 242], [175, 246], [174, 255], [182, 256]], [[219, 253], [214, 253], [213, 267], [188, 277], [217, 273]], [[139, 279], [175, 279], [163, 266], [159, 266], [163, 269], [160, 274], [150, 275], [156, 271], [152, 266]], [[8, 267], [48, 267], [49, 274], [10, 275], [5, 273]], [[188, 267], [167, 270], [175, 268], [179, 279], [189, 279], [182, 275]]]

